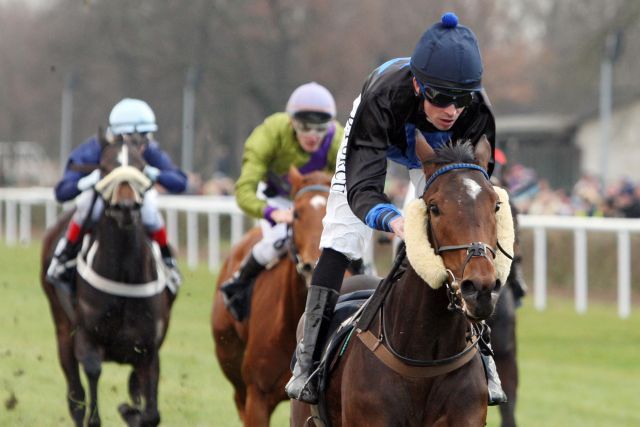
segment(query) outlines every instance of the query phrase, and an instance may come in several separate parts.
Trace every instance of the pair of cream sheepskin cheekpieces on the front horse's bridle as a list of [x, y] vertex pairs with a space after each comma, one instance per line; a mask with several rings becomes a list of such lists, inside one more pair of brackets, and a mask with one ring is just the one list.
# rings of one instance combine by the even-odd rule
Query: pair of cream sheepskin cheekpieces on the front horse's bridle
[[[500, 187], [493, 187], [498, 193], [501, 207], [496, 213], [496, 225], [498, 242], [507, 252], [513, 251], [515, 231], [513, 229], [513, 217], [509, 206], [509, 196]], [[405, 211], [405, 244], [407, 257], [413, 269], [433, 289], [438, 289], [447, 280], [447, 268], [440, 255], [437, 255], [427, 237], [427, 206], [421, 198], [412, 201]], [[485, 242], [493, 244], [493, 242]], [[496, 278], [506, 283], [511, 269], [511, 260], [502, 251], [496, 251], [493, 260], [496, 269]]]

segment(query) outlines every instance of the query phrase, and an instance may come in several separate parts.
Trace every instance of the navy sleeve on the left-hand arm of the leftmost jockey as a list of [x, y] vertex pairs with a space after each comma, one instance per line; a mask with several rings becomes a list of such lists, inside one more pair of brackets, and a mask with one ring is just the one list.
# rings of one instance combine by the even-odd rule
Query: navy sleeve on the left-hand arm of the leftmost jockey
[[56, 200], [60, 203], [73, 200], [80, 194], [78, 190], [78, 181], [86, 173], [78, 172], [73, 169], [74, 165], [89, 165], [100, 163], [100, 143], [95, 136], [87, 139], [81, 145], [76, 147], [67, 160], [62, 179], [56, 184], [54, 192]]

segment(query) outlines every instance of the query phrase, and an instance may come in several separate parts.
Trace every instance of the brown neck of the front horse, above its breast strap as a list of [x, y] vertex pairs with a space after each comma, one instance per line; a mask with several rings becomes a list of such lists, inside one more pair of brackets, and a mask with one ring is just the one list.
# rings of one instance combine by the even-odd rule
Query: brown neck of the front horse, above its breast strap
[[465, 346], [468, 322], [447, 309], [446, 288], [432, 289], [408, 266], [384, 303], [387, 340], [415, 359], [451, 356]]

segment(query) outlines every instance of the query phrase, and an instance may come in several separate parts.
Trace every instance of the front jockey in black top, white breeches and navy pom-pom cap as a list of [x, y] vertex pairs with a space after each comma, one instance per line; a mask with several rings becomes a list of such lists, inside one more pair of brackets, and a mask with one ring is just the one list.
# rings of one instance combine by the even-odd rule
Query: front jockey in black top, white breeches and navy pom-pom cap
[[[322, 253], [311, 279], [304, 338], [286, 386], [289, 397], [318, 401], [312, 376], [350, 259], [362, 256], [372, 229], [404, 236], [404, 218], [384, 194], [387, 159], [409, 169], [422, 194], [425, 178], [415, 154], [418, 129], [433, 148], [484, 135], [492, 151], [495, 122], [482, 88], [478, 41], [453, 13], [442, 16], [418, 41], [411, 58], [397, 58], [367, 78], [345, 125], [320, 241]], [[493, 155], [492, 155], [493, 157]], [[490, 163], [489, 174], [493, 169]], [[485, 356], [483, 356], [485, 357]], [[490, 404], [505, 400], [493, 359], [487, 357]]]

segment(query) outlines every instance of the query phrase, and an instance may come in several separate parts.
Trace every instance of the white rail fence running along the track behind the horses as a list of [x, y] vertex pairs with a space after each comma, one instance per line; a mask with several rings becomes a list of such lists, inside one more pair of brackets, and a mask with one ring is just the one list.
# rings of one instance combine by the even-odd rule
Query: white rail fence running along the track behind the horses
[[[244, 216], [233, 197], [228, 196], [168, 196], [159, 197], [164, 211], [169, 240], [177, 245], [179, 214], [186, 216], [187, 265], [195, 268], [199, 262], [199, 216], [207, 218], [208, 265], [211, 271], [220, 266], [221, 217], [229, 216], [231, 243], [237, 242], [244, 232]], [[44, 206], [45, 226], [56, 220], [59, 205], [51, 188], [0, 188], [0, 232], [8, 245], [31, 241], [33, 206]], [[4, 207], [4, 209], [2, 209]], [[617, 287], [618, 314], [622, 318], [631, 314], [631, 243], [630, 234], [640, 233], [640, 221], [620, 218], [583, 218], [560, 216], [520, 216], [520, 226], [533, 231], [533, 298], [534, 306], [544, 310], [547, 304], [547, 230], [569, 230], [574, 234], [574, 293], [578, 313], [587, 310], [587, 232], [617, 234]]]

